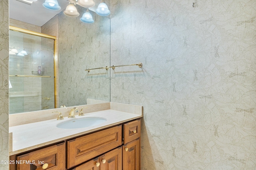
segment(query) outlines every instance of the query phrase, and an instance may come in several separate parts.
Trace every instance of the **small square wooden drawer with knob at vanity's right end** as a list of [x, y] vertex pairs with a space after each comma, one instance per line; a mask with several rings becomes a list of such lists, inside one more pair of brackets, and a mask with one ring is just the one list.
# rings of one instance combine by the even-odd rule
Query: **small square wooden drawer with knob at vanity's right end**
[[124, 144], [140, 137], [140, 120], [124, 124]]

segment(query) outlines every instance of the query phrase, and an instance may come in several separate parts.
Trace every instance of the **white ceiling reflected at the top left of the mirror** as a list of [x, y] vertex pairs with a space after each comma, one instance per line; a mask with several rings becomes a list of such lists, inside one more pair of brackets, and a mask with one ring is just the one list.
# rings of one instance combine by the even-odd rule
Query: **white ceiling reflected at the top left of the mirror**
[[9, 0], [9, 18], [42, 27], [68, 6], [67, 0], [58, 0], [61, 9], [58, 11], [48, 10], [42, 5], [44, 1], [38, 0], [29, 5], [18, 0]]

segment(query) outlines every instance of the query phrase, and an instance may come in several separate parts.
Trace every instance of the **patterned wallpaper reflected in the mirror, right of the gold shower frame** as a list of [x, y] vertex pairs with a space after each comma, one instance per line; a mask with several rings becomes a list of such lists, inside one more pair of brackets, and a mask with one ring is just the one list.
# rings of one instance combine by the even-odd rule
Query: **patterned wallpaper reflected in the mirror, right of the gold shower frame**
[[[86, 8], [76, 6], [80, 15]], [[86, 99], [110, 101], [110, 72], [88, 68], [110, 66], [110, 19], [91, 12], [94, 23], [58, 15], [59, 105], [86, 104]]]

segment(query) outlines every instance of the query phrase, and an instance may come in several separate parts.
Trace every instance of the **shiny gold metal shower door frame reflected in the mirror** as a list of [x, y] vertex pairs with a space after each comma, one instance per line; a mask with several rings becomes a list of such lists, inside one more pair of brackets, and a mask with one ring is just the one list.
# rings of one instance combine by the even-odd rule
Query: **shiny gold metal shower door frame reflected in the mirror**
[[21, 33], [26, 33], [26, 34], [30, 34], [30, 35], [36, 35], [39, 37], [44, 37], [44, 38], [48, 38], [48, 39], [53, 39], [54, 40], [54, 107], [57, 108], [58, 106], [58, 91], [57, 91], [57, 75], [58, 75], [58, 55], [57, 55], [57, 37], [52, 36], [52, 35], [48, 35], [48, 34], [44, 34], [44, 33], [38, 33], [35, 31], [30, 31], [28, 29], [22, 29], [22, 28], [18, 28], [18, 27], [14, 27], [14, 26], [10, 26], [9, 25], [9, 30], [12, 31], [18, 31]]

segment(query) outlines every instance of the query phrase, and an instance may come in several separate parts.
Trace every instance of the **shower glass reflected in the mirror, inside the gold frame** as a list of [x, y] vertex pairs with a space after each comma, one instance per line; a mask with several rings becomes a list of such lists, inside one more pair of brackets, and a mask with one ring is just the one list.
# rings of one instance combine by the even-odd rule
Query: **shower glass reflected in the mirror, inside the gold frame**
[[55, 108], [54, 39], [12, 30], [9, 36], [9, 113]]

